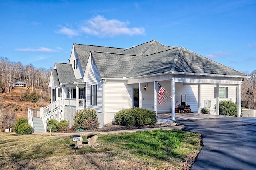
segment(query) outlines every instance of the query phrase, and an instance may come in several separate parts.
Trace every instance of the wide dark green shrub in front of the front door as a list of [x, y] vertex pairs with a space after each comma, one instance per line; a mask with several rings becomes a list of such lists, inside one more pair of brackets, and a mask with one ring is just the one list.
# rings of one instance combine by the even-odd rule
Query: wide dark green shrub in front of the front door
[[157, 122], [154, 111], [138, 107], [119, 111], [114, 115], [114, 121], [122, 126], [154, 125]]

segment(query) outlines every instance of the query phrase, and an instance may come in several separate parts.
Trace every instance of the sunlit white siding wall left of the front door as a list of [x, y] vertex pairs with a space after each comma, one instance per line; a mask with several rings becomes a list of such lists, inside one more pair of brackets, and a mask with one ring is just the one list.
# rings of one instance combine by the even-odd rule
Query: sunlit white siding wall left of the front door
[[104, 87], [104, 124], [112, 121], [114, 114], [132, 108], [132, 85], [126, 81], [107, 80]]

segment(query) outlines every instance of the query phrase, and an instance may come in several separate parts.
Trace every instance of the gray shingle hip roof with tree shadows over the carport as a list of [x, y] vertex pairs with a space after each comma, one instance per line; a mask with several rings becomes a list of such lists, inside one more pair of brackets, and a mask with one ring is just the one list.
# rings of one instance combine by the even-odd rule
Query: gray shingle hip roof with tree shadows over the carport
[[234, 69], [198, 55], [183, 47], [176, 47], [143, 59], [132, 69], [126, 77], [137, 77], [168, 72], [202, 73], [216, 75], [246, 76]]

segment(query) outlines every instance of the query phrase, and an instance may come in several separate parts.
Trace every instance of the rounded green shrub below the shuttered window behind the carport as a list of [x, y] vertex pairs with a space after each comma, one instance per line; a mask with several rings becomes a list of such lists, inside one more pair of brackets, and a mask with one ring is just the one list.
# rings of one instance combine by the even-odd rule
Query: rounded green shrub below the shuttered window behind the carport
[[[216, 111], [216, 105], [214, 105]], [[220, 101], [220, 115], [237, 116], [237, 105], [230, 100]]]

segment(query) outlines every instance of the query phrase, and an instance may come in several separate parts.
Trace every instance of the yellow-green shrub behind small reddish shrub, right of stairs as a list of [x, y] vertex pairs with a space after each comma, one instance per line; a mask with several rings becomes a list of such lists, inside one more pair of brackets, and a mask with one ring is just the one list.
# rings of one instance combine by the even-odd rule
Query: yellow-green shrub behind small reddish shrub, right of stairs
[[92, 121], [94, 121], [95, 119], [97, 120], [97, 124], [98, 124], [98, 118], [97, 118], [97, 114], [96, 114], [96, 110], [95, 109], [90, 109], [90, 108], [85, 108], [82, 111], [77, 111], [75, 116], [73, 117], [74, 120], [74, 125], [79, 129], [84, 128], [84, 122], [88, 119], [91, 118]]

